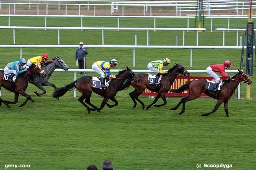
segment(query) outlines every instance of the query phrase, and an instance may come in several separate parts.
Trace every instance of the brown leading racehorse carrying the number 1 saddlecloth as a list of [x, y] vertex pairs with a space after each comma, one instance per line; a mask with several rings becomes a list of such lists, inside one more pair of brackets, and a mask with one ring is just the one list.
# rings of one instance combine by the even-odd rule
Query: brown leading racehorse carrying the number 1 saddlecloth
[[[211, 113], [216, 112], [216, 110], [219, 108], [219, 106], [224, 102], [224, 108], [226, 112], [226, 116], [228, 117], [228, 100], [231, 98], [232, 94], [236, 90], [238, 84], [240, 82], [244, 82], [247, 84], [252, 84], [252, 81], [243, 73], [243, 71], [238, 70], [239, 72], [232, 77], [230, 80], [227, 80], [224, 82], [223, 86], [221, 87], [221, 91], [219, 92], [219, 98], [217, 101], [217, 104], [215, 105], [213, 111], [210, 113], [203, 113], [201, 116], [208, 116]], [[185, 103], [187, 101], [192, 101], [197, 99], [201, 96], [202, 93], [214, 98], [215, 91], [206, 90], [206, 80], [193, 80], [191, 82], [188, 82], [187, 84], [184, 84], [178, 89], [172, 89], [172, 92], [175, 93], [181, 93], [184, 90], [189, 89], [189, 95], [186, 97], [183, 97], [180, 102], [175, 106], [174, 108], [170, 108], [170, 110], [177, 110], [178, 107], [182, 104], [182, 111], [178, 113], [178, 115], [181, 115], [185, 112]]]

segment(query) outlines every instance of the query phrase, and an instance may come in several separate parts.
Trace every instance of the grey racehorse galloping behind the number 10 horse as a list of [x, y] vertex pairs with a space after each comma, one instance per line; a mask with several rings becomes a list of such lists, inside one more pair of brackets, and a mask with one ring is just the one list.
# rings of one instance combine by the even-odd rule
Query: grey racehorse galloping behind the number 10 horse
[[52, 73], [57, 67], [64, 69], [65, 71], [69, 69], [67, 64], [65, 64], [65, 62], [61, 58], [55, 57], [52, 59], [52, 61], [49, 64], [46, 64], [46, 66], [41, 67], [41, 69], [45, 71], [46, 77], [35, 76], [32, 78], [32, 80], [30, 80], [30, 83], [34, 84], [35, 86], [37, 86], [37, 88], [43, 91], [42, 93], [37, 93], [37, 91], [34, 91], [34, 93], [37, 96], [41, 96], [46, 93], [46, 90], [45, 88], [43, 88], [43, 86], [50, 86], [50, 87], [53, 87], [54, 90], [56, 90], [55, 84], [48, 82], [48, 80], [50, 79]]

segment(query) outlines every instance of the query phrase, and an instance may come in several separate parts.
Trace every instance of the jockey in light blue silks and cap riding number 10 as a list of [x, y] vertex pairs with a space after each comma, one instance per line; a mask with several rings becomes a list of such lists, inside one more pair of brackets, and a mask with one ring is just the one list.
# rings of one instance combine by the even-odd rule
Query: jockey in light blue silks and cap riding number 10
[[4, 68], [4, 72], [5, 73], [9, 73], [9, 74], [14, 74], [19, 75], [21, 73], [23, 73], [24, 71], [27, 71], [27, 69], [23, 68], [22, 66], [24, 66], [26, 64], [26, 60], [24, 58], [20, 58], [19, 61], [14, 61], [14, 62], [10, 62], [6, 65], [6, 67]]

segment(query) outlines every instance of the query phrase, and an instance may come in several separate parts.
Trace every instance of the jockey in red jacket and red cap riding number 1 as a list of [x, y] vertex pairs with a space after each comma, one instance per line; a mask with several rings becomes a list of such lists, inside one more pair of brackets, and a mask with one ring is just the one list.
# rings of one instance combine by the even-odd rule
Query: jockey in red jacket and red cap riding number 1
[[228, 79], [230, 76], [225, 73], [225, 69], [229, 69], [230, 66], [232, 66], [231, 62], [226, 60], [223, 64], [210, 65], [208, 68], [206, 68], [206, 73], [215, 79], [215, 99], [217, 99], [219, 81], [221, 80], [221, 78], [215, 72], [221, 73], [222, 79]]

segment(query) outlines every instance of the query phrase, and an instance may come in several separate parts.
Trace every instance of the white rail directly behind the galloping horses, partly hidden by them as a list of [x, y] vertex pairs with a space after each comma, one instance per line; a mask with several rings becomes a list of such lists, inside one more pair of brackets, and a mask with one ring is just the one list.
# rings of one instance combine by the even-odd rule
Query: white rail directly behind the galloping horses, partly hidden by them
[[[1, 70], [1, 69], [0, 69]], [[112, 73], [118, 73], [122, 69], [111, 69]], [[134, 73], [154, 73], [151, 70], [148, 69], [134, 69], [132, 70]], [[165, 70], [167, 71], [167, 70]], [[206, 70], [187, 70], [189, 73], [206, 73]], [[76, 80], [76, 72], [95, 72], [93, 69], [69, 69], [68, 71], [64, 71], [63, 69], [55, 69], [54, 72], [74, 72], [74, 81]], [[226, 73], [237, 73], [238, 70], [225, 70]], [[1, 91], [0, 91], [0, 96], [1, 96]], [[74, 90], [74, 97], [76, 97], [76, 90]], [[238, 91], [237, 91], [237, 98], [240, 99], [240, 84], [238, 86]]]

